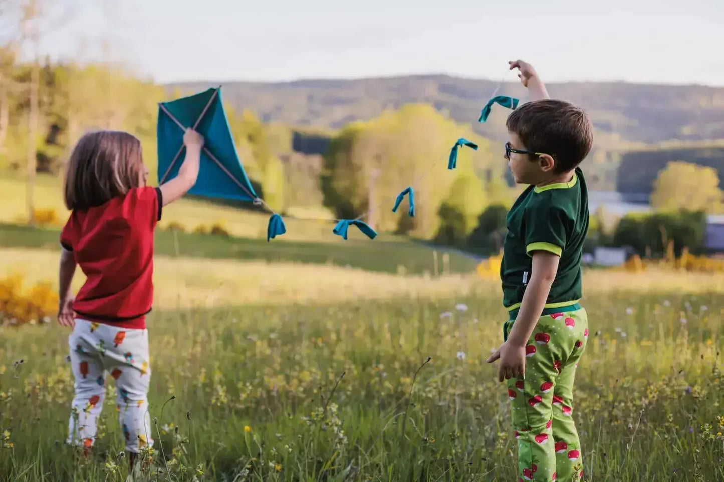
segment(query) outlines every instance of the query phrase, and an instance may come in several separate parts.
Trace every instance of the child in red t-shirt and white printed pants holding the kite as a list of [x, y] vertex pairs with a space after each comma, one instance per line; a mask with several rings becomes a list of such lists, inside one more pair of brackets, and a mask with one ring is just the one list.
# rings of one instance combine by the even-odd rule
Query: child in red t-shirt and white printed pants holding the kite
[[[67, 442], [86, 454], [93, 446], [111, 373], [131, 468], [138, 468], [138, 452], [153, 446], [146, 399], [153, 229], [161, 208], [195, 184], [203, 147], [193, 130], [183, 141], [179, 174], [160, 187], [146, 186], [140, 141], [127, 132], [83, 135], [65, 177], [65, 205], [72, 212], [60, 235], [58, 322], [72, 327], [68, 344], [75, 376]], [[70, 284], [77, 265], [87, 279], [74, 300]]]

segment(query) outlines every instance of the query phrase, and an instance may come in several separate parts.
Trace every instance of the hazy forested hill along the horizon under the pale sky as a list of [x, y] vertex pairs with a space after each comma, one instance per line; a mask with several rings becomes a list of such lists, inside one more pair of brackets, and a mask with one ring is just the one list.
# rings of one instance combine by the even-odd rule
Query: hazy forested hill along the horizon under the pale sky
[[[169, 85], [202, 90], [218, 82]], [[266, 122], [339, 128], [370, 119], [386, 107], [425, 102], [458, 122], [471, 122], [481, 135], [505, 138], [508, 111], [495, 108], [488, 122], [480, 109], [498, 83], [448, 75], [409, 75], [355, 80], [298, 80], [287, 83], [224, 83], [224, 100], [251, 109]], [[597, 128], [597, 146], [628, 150], [666, 140], [724, 138], [724, 88], [703, 85], [651, 85], [610, 82], [551, 83], [551, 96], [586, 109]], [[498, 93], [525, 100], [519, 83]]]

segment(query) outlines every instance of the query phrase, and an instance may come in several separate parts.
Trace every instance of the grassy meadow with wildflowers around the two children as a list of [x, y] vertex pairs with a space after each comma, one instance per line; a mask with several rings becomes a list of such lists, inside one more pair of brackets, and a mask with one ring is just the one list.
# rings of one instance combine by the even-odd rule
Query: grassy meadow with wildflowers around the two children
[[[450, 253], [443, 270], [440, 254], [436, 276], [432, 250], [397, 238], [250, 237], [156, 235], [149, 481], [519, 480], [484, 362], [502, 341], [500, 283], [476, 261]], [[56, 287], [57, 243], [1, 224], [0, 274]], [[597, 270], [584, 286], [586, 479], [723, 481], [724, 275]], [[111, 383], [92, 456], [63, 444], [67, 335], [0, 327], [1, 482], [125, 481]]]

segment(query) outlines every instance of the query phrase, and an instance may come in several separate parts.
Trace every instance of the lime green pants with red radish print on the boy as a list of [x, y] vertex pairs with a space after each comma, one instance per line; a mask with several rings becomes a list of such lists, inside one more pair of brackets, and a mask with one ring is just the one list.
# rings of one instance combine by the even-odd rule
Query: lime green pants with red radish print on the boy
[[[505, 324], [506, 336], [512, 326], [513, 321]], [[518, 481], [577, 482], [583, 477], [573, 380], [587, 339], [583, 308], [542, 316], [526, 345], [525, 380], [508, 380]]]

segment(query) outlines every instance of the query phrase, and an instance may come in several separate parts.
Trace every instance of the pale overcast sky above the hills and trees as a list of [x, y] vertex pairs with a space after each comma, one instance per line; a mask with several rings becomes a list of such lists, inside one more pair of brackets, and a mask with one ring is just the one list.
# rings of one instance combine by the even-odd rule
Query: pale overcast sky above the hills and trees
[[[724, 0], [61, 0], [53, 56], [111, 56], [159, 82], [447, 73], [724, 85]], [[594, 4], [584, 6], [584, 4]], [[95, 5], [95, 6], [94, 6]], [[104, 33], [106, 32], [106, 33]]]

